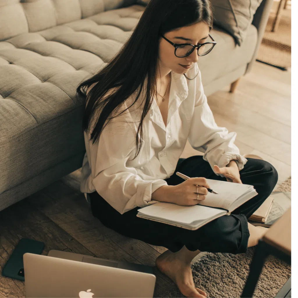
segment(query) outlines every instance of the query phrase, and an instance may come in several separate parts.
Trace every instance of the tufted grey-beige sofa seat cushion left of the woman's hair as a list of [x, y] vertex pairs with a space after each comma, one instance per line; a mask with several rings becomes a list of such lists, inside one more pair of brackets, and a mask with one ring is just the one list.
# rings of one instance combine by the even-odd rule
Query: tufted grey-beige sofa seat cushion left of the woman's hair
[[0, 41], [0, 194], [86, 151], [77, 86], [119, 51], [134, 5]]

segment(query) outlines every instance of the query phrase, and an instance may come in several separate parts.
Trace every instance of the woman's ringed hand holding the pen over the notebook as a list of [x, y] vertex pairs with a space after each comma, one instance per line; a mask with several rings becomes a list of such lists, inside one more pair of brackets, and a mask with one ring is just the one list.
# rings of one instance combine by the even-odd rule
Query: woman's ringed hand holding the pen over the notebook
[[[197, 185], [198, 199], [197, 199]], [[205, 200], [208, 193], [207, 188], [210, 188], [204, 177], [192, 177], [180, 184], [171, 185], [166, 191], [167, 202], [181, 206], [192, 206]]]

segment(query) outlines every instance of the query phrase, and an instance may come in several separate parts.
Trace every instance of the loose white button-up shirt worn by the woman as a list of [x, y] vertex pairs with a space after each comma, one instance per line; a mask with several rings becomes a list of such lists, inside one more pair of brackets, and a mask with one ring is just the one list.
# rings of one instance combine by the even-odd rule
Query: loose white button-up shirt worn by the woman
[[[224, 167], [232, 159], [239, 170], [243, 169], [247, 159], [239, 154], [234, 144], [236, 133], [229, 133], [226, 128], [216, 125], [203, 91], [198, 64], [194, 63], [186, 75], [193, 78], [197, 72], [199, 74], [194, 80], [172, 72], [167, 125], [164, 125], [159, 106], [153, 99], [143, 121], [143, 140], [136, 159], [132, 160], [136, 153], [138, 113], [142, 106], [136, 112], [134, 110], [144, 99], [144, 93], [128, 109], [129, 112], [125, 111], [108, 123], [94, 145], [89, 140], [90, 132], [84, 132], [86, 153], [80, 191], [87, 201], [86, 193], [97, 191], [121, 214], [135, 207], [157, 203], [151, 200], [151, 194], [167, 185], [164, 179], [173, 175], [187, 139], [194, 149], [204, 153], [203, 159], [209, 162], [212, 170], [215, 164]], [[134, 94], [125, 101], [121, 111], [131, 105]], [[223, 174], [216, 175], [224, 177]]]

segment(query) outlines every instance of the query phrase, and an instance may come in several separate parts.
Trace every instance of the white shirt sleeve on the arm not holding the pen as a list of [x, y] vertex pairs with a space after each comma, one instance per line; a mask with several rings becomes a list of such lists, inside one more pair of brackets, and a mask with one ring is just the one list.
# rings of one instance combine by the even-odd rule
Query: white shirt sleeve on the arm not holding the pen
[[[203, 159], [209, 162], [212, 170], [214, 165], [225, 167], [234, 159], [239, 171], [243, 169], [247, 159], [240, 155], [239, 148], [234, 144], [236, 132], [230, 132], [215, 123], [212, 111], [207, 103], [207, 97], [201, 81], [201, 71], [196, 77], [195, 107], [191, 120], [188, 141], [190, 145], [203, 152]], [[214, 172], [215, 173], [215, 172]], [[215, 173], [224, 177], [223, 174]]]

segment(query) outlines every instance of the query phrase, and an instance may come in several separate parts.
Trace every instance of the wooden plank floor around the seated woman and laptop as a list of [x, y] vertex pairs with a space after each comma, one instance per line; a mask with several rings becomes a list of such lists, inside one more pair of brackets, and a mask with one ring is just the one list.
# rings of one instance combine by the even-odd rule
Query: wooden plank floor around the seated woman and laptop
[[[291, 175], [291, 72], [256, 62], [235, 94], [228, 87], [208, 97], [215, 121], [236, 131], [241, 154], [261, 156], [276, 167], [278, 184]], [[181, 157], [202, 155], [187, 143]], [[0, 212], [0, 270], [21, 238], [50, 249], [154, 266], [163, 247], [126, 238], [103, 226], [80, 193], [80, 169]], [[198, 260], [199, 254], [193, 262]], [[176, 285], [154, 268], [154, 297]], [[0, 297], [26, 297], [25, 284], [0, 276]]]

